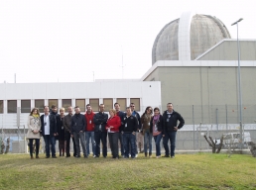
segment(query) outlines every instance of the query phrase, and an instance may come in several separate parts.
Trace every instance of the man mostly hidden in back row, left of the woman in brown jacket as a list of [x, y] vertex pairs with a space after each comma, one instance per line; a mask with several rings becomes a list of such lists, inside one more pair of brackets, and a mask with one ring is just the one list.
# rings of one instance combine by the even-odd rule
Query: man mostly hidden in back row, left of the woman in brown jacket
[[132, 115], [138, 120], [138, 129], [136, 131], [136, 136], [135, 136], [135, 149], [136, 149], [136, 157], [138, 155], [138, 146], [140, 148], [140, 151], [142, 151], [141, 147], [143, 147], [143, 136], [140, 133], [141, 131], [141, 117], [138, 112], [135, 111], [135, 104], [131, 103], [130, 104], [131, 110], [132, 110]]

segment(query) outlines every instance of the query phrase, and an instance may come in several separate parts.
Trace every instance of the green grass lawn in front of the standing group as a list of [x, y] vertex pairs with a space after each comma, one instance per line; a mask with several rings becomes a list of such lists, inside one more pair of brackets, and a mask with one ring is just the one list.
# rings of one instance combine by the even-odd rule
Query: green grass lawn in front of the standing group
[[178, 154], [119, 160], [0, 155], [0, 189], [256, 189], [251, 155]]

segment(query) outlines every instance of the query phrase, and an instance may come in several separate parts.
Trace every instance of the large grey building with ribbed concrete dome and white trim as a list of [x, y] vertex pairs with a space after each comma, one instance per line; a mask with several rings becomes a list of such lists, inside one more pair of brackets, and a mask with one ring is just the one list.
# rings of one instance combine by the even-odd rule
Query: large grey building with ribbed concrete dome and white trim
[[[256, 41], [239, 42], [242, 104], [248, 108], [256, 102]], [[237, 39], [231, 39], [226, 25], [216, 17], [186, 12], [157, 35], [152, 67], [142, 80], [161, 81], [162, 109], [173, 102], [187, 124], [225, 122], [226, 111], [229, 122], [237, 123], [237, 58]], [[255, 118], [252, 113], [246, 116]]]

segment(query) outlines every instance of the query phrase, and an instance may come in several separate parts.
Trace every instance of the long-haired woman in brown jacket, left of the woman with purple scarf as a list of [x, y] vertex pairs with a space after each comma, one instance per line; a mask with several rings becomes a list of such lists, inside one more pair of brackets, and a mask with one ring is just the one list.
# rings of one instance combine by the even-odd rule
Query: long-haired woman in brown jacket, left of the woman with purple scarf
[[148, 156], [148, 144], [149, 144], [149, 157], [152, 154], [152, 133], [150, 132], [150, 121], [152, 118], [152, 107], [148, 106], [141, 116], [142, 132], [144, 135], [144, 152], [145, 157]]

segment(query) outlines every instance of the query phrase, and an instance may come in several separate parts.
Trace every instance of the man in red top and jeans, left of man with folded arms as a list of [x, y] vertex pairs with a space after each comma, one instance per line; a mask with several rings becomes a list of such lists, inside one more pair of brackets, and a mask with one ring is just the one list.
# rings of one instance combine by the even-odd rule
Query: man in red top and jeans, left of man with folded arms
[[91, 109], [91, 106], [89, 104], [86, 105], [87, 112], [84, 114], [85, 120], [86, 120], [86, 129], [85, 129], [85, 141], [86, 141], [86, 150], [87, 155], [89, 156], [89, 139], [91, 140], [91, 148], [92, 148], [92, 154], [93, 157], [96, 157], [95, 154], [95, 146], [96, 142], [94, 140], [94, 123], [93, 123], [93, 116], [95, 115], [94, 112]]

